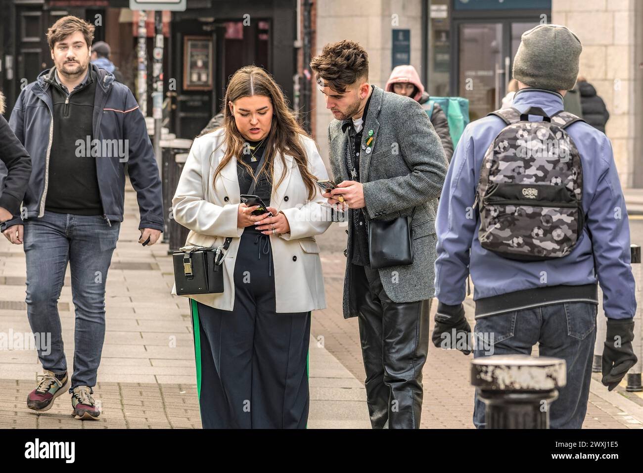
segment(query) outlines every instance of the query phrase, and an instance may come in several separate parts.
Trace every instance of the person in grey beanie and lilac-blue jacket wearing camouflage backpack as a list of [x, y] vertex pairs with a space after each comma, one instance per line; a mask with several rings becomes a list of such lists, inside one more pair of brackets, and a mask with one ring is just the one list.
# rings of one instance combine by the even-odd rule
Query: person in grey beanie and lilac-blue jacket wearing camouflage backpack
[[[608, 326], [602, 355], [602, 384], [610, 391], [615, 389], [637, 362], [631, 344], [636, 299], [629, 266], [628, 214], [610, 140], [574, 115], [555, 116], [563, 111], [566, 91], [574, 87], [582, 50], [578, 37], [565, 26], [543, 24], [522, 35], [513, 66], [519, 86], [513, 110], [496, 111], [466, 127], [451, 160], [436, 220], [435, 297], [439, 304], [431, 337], [433, 343], [441, 348], [454, 348], [453, 344], [445, 346], [444, 342], [455, 331], [457, 339], [476, 340], [475, 348], [459, 343], [457, 346], [466, 355], [473, 351], [474, 358], [530, 355], [536, 343], [540, 356], [563, 358], [567, 382], [565, 387], [559, 388], [557, 400], [548, 407], [552, 429], [580, 429], [583, 426], [592, 380], [597, 283], [601, 284], [604, 294], [603, 308]], [[507, 118], [509, 116], [511, 119]], [[528, 133], [523, 124], [525, 119], [534, 123], [541, 119], [551, 121], [550, 125], [538, 125], [538, 132], [547, 131], [547, 127], [553, 129], [557, 124], [555, 132], [563, 135], [560, 127], [564, 127], [569, 142], [575, 145], [572, 160], [565, 162], [580, 163], [582, 170], [574, 167], [572, 171], [571, 165], [558, 160], [544, 142], [550, 139], [542, 138], [543, 133]], [[480, 236], [479, 231], [483, 214], [487, 223], [490, 205], [488, 194], [484, 194], [484, 205], [475, 212], [478, 209], [474, 203], [476, 185], [483, 173], [487, 149], [509, 123], [516, 131], [516, 143], [499, 142], [494, 148], [502, 154], [506, 165], [502, 183], [507, 181], [510, 186], [518, 187], [529, 183], [529, 187], [522, 187], [525, 196], [524, 190], [535, 190], [537, 196], [538, 192], [551, 194], [556, 188], [564, 192], [574, 186], [582, 194], [582, 198], [574, 197], [575, 212], [584, 220], [574, 225], [576, 243], [569, 252], [557, 257], [543, 259], [538, 255], [542, 254], [541, 244], [549, 241], [550, 234], [560, 240], [552, 233], [556, 232], [552, 228], [558, 225], [556, 221], [568, 223], [570, 214], [561, 208], [547, 209], [545, 200], [529, 201], [529, 205], [534, 206], [530, 208], [543, 209], [540, 216], [532, 219], [536, 225], [532, 230], [525, 225], [525, 219], [521, 219], [523, 215], [519, 211], [529, 210], [520, 203], [510, 201], [491, 206], [505, 232], [500, 236], [500, 242], [520, 246], [525, 258], [503, 257], [485, 249], [480, 241], [484, 240], [485, 245], [491, 241], [487, 239], [488, 232]], [[508, 130], [509, 127], [503, 131], [503, 136], [510, 136]], [[539, 161], [514, 153], [516, 144], [520, 140], [525, 142], [525, 136], [529, 137], [530, 149], [547, 150]], [[484, 172], [488, 179], [491, 174]], [[561, 176], [565, 183], [561, 183]], [[500, 190], [507, 189], [501, 189], [502, 183], [495, 184], [494, 198], [501, 194]], [[534, 197], [533, 193], [530, 195]], [[577, 195], [572, 193], [572, 196]], [[618, 214], [615, 209], [619, 209]], [[524, 228], [518, 228], [520, 225]], [[496, 223], [495, 228], [500, 227], [501, 223]], [[533, 238], [529, 239], [532, 245], [512, 238], [525, 228], [532, 232]], [[473, 337], [462, 304], [466, 295], [464, 283], [469, 275], [475, 287]], [[615, 340], [620, 340], [618, 346]], [[480, 429], [487, 426], [485, 405], [477, 395], [473, 423]]]

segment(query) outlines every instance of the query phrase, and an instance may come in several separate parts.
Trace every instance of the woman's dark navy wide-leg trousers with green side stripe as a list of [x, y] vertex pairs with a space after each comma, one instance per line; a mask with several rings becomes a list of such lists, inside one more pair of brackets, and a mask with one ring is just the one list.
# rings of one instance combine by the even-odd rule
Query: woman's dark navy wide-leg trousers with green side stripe
[[311, 313], [275, 312], [269, 237], [246, 228], [233, 311], [192, 304], [204, 429], [305, 429]]

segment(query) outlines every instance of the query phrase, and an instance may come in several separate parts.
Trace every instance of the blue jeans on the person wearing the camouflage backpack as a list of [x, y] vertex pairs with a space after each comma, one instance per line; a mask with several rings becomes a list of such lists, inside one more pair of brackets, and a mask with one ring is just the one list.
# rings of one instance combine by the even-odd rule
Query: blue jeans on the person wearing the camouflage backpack
[[[558, 390], [558, 399], [549, 407], [550, 428], [580, 429], [590, 396], [596, 312], [594, 304], [571, 302], [478, 319], [474, 339], [487, 343], [476, 344], [473, 357], [531, 355], [532, 346], [538, 342], [539, 356], [565, 360], [567, 384]], [[485, 404], [477, 394], [473, 423], [478, 429], [485, 427]]]

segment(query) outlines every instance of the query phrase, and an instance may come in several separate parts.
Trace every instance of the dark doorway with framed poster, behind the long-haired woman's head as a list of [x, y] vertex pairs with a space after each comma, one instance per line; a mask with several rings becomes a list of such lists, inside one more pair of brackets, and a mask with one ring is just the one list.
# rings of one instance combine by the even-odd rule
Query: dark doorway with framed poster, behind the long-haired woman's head
[[[168, 76], [176, 78], [177, 84], [167, 96], [172, 100], [173, 111], [170, 131], [180, 138], [194, 138], [221, 110], [228, 81], [242, 66], [255, 64], [264, 68], [273, 75], [287, 100], [293, 100], [296, 1], [216, 0], [213, 5], [216, 8], [172, 14], [172, 65]], [[195, 62], [184, 52], [186, 37], [190, 36], [197, 37], [200, 48], [212, 42], [208, 65], [212, 84], [208, 88], [194, 89], [189, 84], [186, 88], [183, 84], [186, 60]], [[201, 69], [199, 77], [202, 74], [208, 75]]]

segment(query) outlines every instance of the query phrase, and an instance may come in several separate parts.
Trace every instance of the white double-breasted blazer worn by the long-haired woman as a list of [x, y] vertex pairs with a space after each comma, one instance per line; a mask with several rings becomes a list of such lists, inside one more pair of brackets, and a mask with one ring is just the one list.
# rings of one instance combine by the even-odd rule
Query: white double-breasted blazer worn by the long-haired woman
[[[190, 229], [186, 246], [221, 246], [226, 237], [233, 237], [223, 259], [224, 279], [222, 293], [185, 295], [206, 306], [233, 310], [235, 304], [235, 261], [240, 236], [244, 228], [237, 227], [240, 204], [237, 160], [219, 172], [216, 182], [214, 171], [221, 162], [225, 131], [219, 129], [194, 140], [185, 162], [181, 178], [172, 199], [174, 219]], [[328, 179], [328, 173], [317, 151], [315, 142], [301, 136], [308, 169], [318, 179]], [[213, 153], [213, 151], [217, 149]], [[276, 312], [307, 312], [326, 307], [321, 272], [320, 248], [314, 239], [331, 225], [327, 217], [329, 207], [322, 206], [326, 199], [315, 185], [316, 194], [307, 201], [308, 193], [293, 156], [285, 154], [286, 174], [282, 183], [273, 187], [270, 206], [284, 212], [290, 225], [289, 234], [270, 235], [275, 266]], [[282, 174], [282, 161], [275, 155], [275, 183]], [[176, 284], [172, 288], [176, 295]]]

